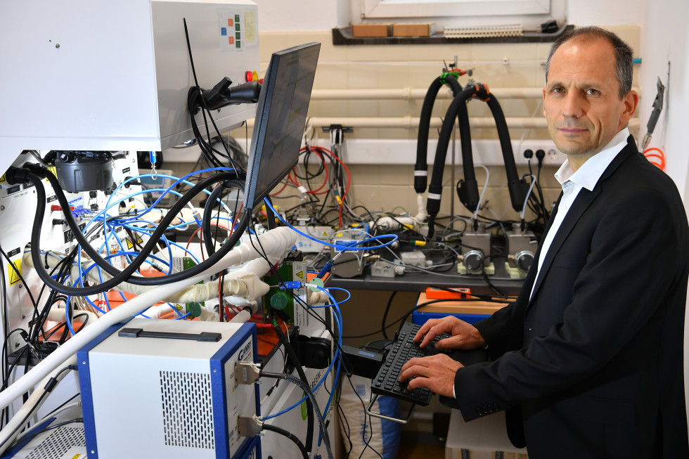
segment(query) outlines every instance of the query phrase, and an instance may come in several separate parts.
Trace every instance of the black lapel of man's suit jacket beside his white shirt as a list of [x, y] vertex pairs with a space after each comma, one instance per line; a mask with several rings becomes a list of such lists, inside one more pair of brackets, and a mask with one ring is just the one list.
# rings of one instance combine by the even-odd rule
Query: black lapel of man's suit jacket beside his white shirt
[[[635, 153], [638, 154], [638, 150], [636, 149], [636, 143], [634, 142], [634, 138], [632, 136], [629, 136], [627, 138], [626, 147], [622, 148], [622, 150], [617, 154], [617, 156], [614, 157], [614, 160], [612, 160], [607, 169], [605, 169], [605, 172], [603, 172], [603, 175], [601, 175], [600, 179], [598, 179], [598, 183], [595, 184], [593, 190], [589, 191], [586, 188], [581, 188], [581, 191], [579, 191], [579, 195], [577, 195], [577, 198], [572, 203], [572, 207], [569, 208], [567, 215], [565, 215], [565, 219], [562, 220], [562, 224], [558, 229], [558, 233], [556, 233], [555, 238], [553, 238], [553, 243], [551, 243], [550, 247], [548, 248], [546, 258], [543, 260], [543, 264], [541, 265], [541, 271], [538, 274], [538, 278], [536, 278], [534, 295], [531, 295], [531, 301], [529, 301], [529, 306], [532, 304], [533, 299], [536, 298], [536, 295], [539, 292], [539, 287], [541, 287], [541, 283], [543, 283], [543, 278], [546, 277], [548, 269], [550, 269], [550, 265], [553, 264], [553, 259], [555, 259], [555, 255], [558, 254], [558, 252], [560, 251], [560, 247], [562, 247], [562, 244], [565, 243], [565, 240], [567, 240], [569, 234], [572, 233], [575, 224], [577, 224], [577, 221], [579, 221], [584, 212], [586, 212], [588, 206], [591, 205], [591, 202], [593, 202], [593, 200], [595, 200], [598, 194], [600, 194], [600, 190], [605, 179], [612, 175], [612, 173], [617, 169], [617, 167], [619, 167], [620, 164], [622, 164], [622, 162], [624, 162], [624, 160], [631, 157]], [[562, 194], [560, 194], [560, 198], [562, 198]], [[559, 202], [560, 200], [558, 199], [558, 203]], [[550, 219], [550, 224], [552, 224], [552, 221], [553, 219]], [[543, 236], [545, 237], [545, 233], [543, 234]], [[538, 258], [536, 258], [536, 260], [538, 260]]]

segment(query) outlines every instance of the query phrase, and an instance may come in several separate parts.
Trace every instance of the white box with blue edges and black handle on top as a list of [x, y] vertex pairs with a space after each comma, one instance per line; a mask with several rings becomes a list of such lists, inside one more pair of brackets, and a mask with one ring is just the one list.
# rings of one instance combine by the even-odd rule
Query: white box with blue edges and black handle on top
[[258, 384], [234, 377], [257, 360], [255, 324], [134, 318], [77, 358], [89, 459], [261, 457], [238, 432], [260, 414]]

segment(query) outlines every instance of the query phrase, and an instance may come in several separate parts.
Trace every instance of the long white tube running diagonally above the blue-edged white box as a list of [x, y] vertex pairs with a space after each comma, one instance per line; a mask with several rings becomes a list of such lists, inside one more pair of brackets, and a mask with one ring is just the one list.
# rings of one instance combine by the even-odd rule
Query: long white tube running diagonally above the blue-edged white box
[[[262, 247], [266, 251], [267, 257], [271, 259], [271, 261], [282, 259], [297, 241], [297, 234], [290, 228], [284, 227], [275, 228], [258, 237], [261, 240]], [[18, 381], [3, 392], [0, 392], [0, 409], [9, 406], [15, 399], [18, 399], [22, 394], [32, 389], [43, 377], [48, 375], [52, 370], [58, 368], [58, 366], [63, 365], [68, 358], [72, 358], [79, 349], [84, 347], [84, 344], [94, 340], [94, 338], [104, 332], [110, 325], [120, 323], [130, 316], [144, 311], [153, 304], [162, 301], [162, 299], [167, 298], [172, 293], [188, 287], [189, 285], [194, 285], [218, 271], [222, 271], [229, 266], [245, 263], [257, 257], [260, 257], [259, 252], [250, 244], [244, 243], [235, 247], [223, 259], [218, 261], [217, 264], [203, 271], [198, 276], [180, 280], [172, 284], [159, 285], [118, 306], [99, 318], [93, 325], [80, 330], [77, 335], [74, 335], [70, 340], [67, 340], [65, 344], [58, 347], [58, 349], [44, 358], [37, 366], [29, 370], [29, 372]], [[77, 365], [81, 366], [82, 362], [77, 362]]]

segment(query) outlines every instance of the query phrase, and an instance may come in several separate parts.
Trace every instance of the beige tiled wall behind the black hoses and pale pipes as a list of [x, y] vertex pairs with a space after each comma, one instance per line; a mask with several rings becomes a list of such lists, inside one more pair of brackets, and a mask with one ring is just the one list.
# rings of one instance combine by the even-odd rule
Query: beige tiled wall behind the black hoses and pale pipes
[[[633, 49], [639, 49], [638, 26], [615, 26], [623, 39]], [[550, 49], [550, 44], [437, 44], [437, 45], [361, 45], [334, 46], [331, 32], [271, 32], [260, 34], [261, 67], [268, 65], [273, 51], [288, 46], [321, 42], [321, 55], [316, 72], [314, 89], [375, 89], [375, 88], [418, 88], [427, 89], [442, 71], [443, 60], [450, 63], [457, 56], [458, 67], [472, 69], [475, 81], [488, 84], [491, 88], [536, 87], [545, 82], [542, 64]], [[506, 58], [508, 63], [503, 63]], [[465, 85], [468, 77], [460, 78]], [[636, 83], [636, 82], [635, 82]], [[449, 99], [438, 99], [434, 104], [434, 117], [442, 117], [449, 105]], [[536, 99], [503, 99], [500, 101], [506, 117], [542, 117], [540, 101]], [[411, 101], [312, 101], [309, 117], [418, 117], [422, 100]], [[486, 104], [469, 104], [470, 117], [488, 117]], [[234, 133], [233, 133], [234, 134]], [[472, 138], [496, 138], [495, 129], [472, 129]], [[236, 136], [243, 137], [243, 129]], [[354, 129], [346, 138], [401, 138], [416, 139], [416, 129]], [[319, 145], [327, 146], [326, 134], [319, 134]], [[510, 136], [517, 138], [548, 138], [546, 129], [510, 129]], [[437, 138], [437, 131], [431, 129], [430, 138]], [[345, 151], [347, 146], [345, 145]], [[515, 152], [520, 155], [521, 152]], [[432, 153], [429, 153], [429, 157]], [[346, 155], [345, 155], [346, 157]], [[564, 157], [562, 157], [564, 160]], [[430, 160], [432, 162], [432, 160]], [[174, 164], [173, 168], [177, 167]], [[179, 169], [184, 169], [179, 166]], [[350, 164], [352, 172], [351, 195], [355, 204], [375, 209], [392, 210], [401, 206], [416, 213], [416, 195], [413, 191], [413, 166], [380, 164]], [[501, 167], [489, 167], [490, 180], [487, 196], [491, 196], [488, 207], [503, 218], [516, 218], [509, 205], [506, 176]], [[526, 168], [520, 168], [526, 174]], [[560, 192], [553, 179], [555, 167], [548, 167], [541, 173], [541, 182], [546, 202], [555, 200]], [[477, 169], [479, 187], [483, 186], [485, 174]], [[444, 179], [442, 211], [449, 213], [451, 199], [455, 201], [455, 214], [468, 214], [456, 198], [454, 183], [450, 181], [451, 172], [446, 168]], [[461, 175], [456, 176], [456, 180]], [[480, 191], [480, 188], [479, 188]], [[281, 200], [280, 204], [291, 207], [297, 200]], [[489, 210], [484, 212], [491, 215]]]

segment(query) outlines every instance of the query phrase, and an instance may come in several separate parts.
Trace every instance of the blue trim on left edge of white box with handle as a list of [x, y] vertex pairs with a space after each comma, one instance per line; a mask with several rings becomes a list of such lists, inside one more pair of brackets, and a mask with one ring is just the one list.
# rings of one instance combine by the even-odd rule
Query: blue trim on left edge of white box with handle
[[[94, 415], [93, 388], [91, 387], [91, 368], [89, 366], [89, 351], [105, 341], [110, 335], [120, 330], [126, 321], [110, 325], [100, 335], [85, 344], [77, 351], [77, 366], [79, 367], [79, 388], [82, 392], [82, 418], [84, 418], [84, 436], [86, 437], [86, 451], [90, 459], [98, 459], [98, 441], [96, 439], [96, 418]], [[91, 453], [91, 451], [96, 451]]]

